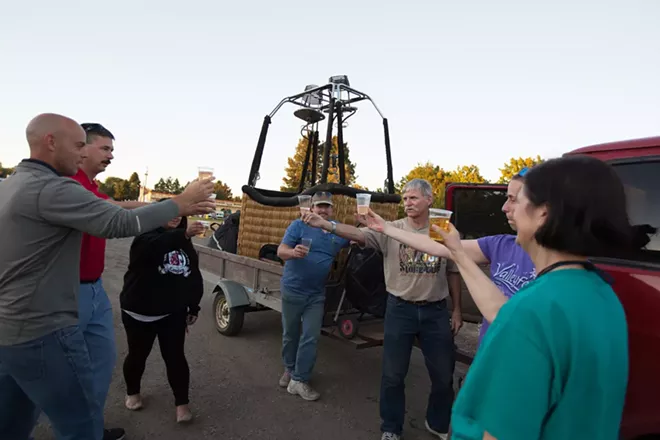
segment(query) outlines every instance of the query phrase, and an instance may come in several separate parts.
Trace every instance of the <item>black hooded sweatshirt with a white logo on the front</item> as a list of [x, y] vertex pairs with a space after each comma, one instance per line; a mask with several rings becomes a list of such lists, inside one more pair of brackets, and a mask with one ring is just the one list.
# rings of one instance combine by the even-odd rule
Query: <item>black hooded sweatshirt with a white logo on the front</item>
[[199, 313], [204, 281], [185, 232], [185, 227], [158, 228], [135, 237], [119, 295], [122, 309], [147, 316]]

